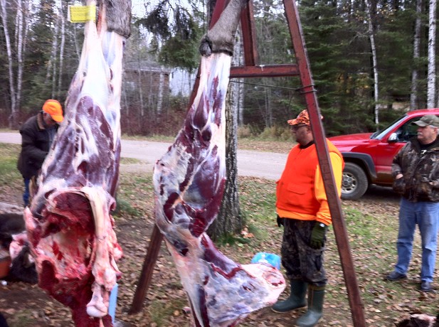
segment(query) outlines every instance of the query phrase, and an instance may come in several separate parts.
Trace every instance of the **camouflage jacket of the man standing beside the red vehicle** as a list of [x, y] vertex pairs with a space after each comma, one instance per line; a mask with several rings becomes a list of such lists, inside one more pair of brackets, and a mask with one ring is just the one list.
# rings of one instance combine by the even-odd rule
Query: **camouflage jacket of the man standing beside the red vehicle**
[[398, 173], [394, 191], [412, 202], [439, 202], [439, 138], [425, 150], [416, 137], [408, 141], [393, 159], [393, 177]]

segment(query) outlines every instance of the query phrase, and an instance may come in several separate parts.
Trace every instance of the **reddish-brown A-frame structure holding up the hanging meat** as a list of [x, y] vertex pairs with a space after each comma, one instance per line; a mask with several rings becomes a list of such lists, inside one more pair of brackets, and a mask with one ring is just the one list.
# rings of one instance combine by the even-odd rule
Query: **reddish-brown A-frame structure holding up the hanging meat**
[[[218, 21], [219, 16], [226, 8], [228, 0], [217, 0], [215, 9], [211, 18], [210, 26]], [[314, 141], [319, 158], [319, 166], [322, 170], [324, 188], [327, 193], [329, 210], [332, 215], [334, 226], [334, 235], [339, 250], [340, 261], [344, 274], [344, 281], [347, 286], [349, 305], [351, 307], [352, 320], [356, 327], [366, 327], [364, 320], [363, 305], [361, 304], [361, 296], [359, 287], [356, 282], [356, 274], [354, 270], [354, 262], [351, 257], [347, 230], [342, 215], [342, 205], [337, 193], [337, 187], [332, 173], [331, 161], [327, 149], [327, 143], [323, 132], [322, 121], [320, 119], [319, 106], [317, 102], [316, 90], [314, 89], [314, 81], [312, 80], [310, 63], [307, 57], [305, 41], [300, 24], [299, 12], [295, 0], [283, 0], [285, 7], [285, 16], [287, 18], [288, 28], [292, 45], [295, 52], [296, 63], [286, 63], [282, 65], [259, 65], [258, 51], [256, 48], [255, 38], [255, 20], [253, 16], [253, 2], [250, 0], [248, 5], [240, 14], [240, 23], [243, 32], [243, 48], [244, 48], [244, 65], [231, 67], [231, 78], [236, 77], [282, 77], [282, 76], [299, 76], [301, 82], [301, 94], [305, 97], [308, 112], [310, 114], [311, 128], [314, 135]], [[199, 79], [197, 78], [194, 91], [198, 88]], [[192, 97], [194, 97], [194, 92]], [[157, 225], [151, 235], [151, 242], [147, 255], [144, 259], [142, 273], [139, 277], [132, 307], [130, 312], [135, 313], [142, 309], [142, 304], [147, 290], [152, 280], [152, 272], [155, 262], [159, 254], [160, 244], [162, 242], [162, 233]]]

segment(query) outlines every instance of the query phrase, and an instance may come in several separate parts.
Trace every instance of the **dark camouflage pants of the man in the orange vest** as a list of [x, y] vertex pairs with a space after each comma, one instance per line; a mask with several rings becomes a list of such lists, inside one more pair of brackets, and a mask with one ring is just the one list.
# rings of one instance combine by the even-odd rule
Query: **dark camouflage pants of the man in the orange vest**
[[324, 286], [327, 283], [323, 267], [324, 247], [317, 250], [310, 247], [315, 223], [314, 220], [285, 219], [282, 266], [287, 271], [288, 279], [300, 279], [314, 286]]

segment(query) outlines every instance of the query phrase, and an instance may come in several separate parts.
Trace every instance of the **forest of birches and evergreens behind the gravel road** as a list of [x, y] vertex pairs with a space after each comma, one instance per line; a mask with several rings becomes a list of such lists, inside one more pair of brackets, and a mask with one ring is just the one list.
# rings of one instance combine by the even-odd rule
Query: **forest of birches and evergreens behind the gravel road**
[[[167, 84], [157, 92], [141, 72], [169, 78], [178, 68], [195, 77], [210, 9], [198, 0], [184, 3], [145, 2], [145, 14], [134, 11], [124, 60], [138, 82], [123, 85], [125, 134], [173, 136], [181, 127], [189, 94], [175, 95]], [[18, 128], [48, 98], [64, 102], [83, 41], [82, 24], [67, 20], [71, 4], [0, 0], [0, 127]], [[259, 64], [295, 63], [282, 1], [253, 4]], [[297, 6], [328, 136], [371, 132], [401, 112], [437, 106], [435, 0], [300, 0]], [[240, 65], [239, 33], [236, 43], [233, 63]], [[290, 138], [285, 122], [305, 106], [298, 77], [231, 84], [238, 88], [240, 136]]]

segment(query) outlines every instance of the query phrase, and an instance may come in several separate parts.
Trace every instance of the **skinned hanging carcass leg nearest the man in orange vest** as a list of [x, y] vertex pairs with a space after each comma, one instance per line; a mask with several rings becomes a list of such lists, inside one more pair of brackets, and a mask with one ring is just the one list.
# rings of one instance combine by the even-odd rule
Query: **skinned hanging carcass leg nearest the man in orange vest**
[[154, 167], [156, 223], [186, 290], [195, 326], [236, 326], [285, 288], [265, 264], [240, 265], [216, 250], [206, 230], [226, 180], [224, 107], [233, 36], [246, 1], [231, 0], [201, 42], [199, 89], [184, 127]]

